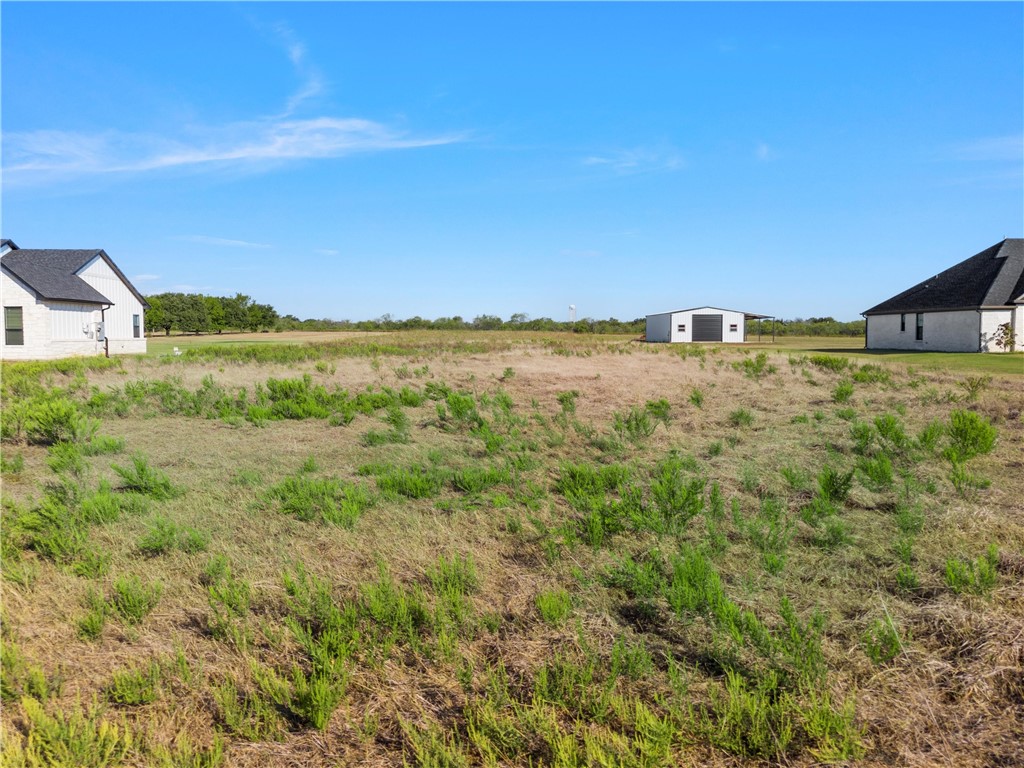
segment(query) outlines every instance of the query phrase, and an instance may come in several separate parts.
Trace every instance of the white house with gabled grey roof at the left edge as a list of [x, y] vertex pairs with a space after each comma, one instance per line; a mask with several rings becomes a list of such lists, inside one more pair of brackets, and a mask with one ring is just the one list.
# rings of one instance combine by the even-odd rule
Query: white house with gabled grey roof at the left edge
[[145, 352], [142, 295], [102, 250], [0, 242], [0, 358]]

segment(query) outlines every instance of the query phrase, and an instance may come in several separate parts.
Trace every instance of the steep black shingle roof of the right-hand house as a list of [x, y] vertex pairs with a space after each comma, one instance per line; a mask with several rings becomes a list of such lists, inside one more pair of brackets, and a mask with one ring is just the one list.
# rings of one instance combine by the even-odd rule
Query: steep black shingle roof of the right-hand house
[[862, 314], [1012, 306], [1024, 293], [1024, 240], [1008, 239]]

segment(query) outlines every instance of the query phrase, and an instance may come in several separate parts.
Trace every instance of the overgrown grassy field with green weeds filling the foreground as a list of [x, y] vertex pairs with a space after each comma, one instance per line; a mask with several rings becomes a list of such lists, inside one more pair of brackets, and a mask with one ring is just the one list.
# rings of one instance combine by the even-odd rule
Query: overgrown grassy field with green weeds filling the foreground
[[3, 765], [1024, 763], [1024, 377], [261, 336], [4, 364]]

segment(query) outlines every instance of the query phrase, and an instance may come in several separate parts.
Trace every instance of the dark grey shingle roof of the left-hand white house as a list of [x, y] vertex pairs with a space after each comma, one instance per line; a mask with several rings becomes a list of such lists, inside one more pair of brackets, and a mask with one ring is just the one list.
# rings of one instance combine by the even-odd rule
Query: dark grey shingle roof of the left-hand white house
[[142, 302], [142, 306], [148, 306], [142, 295], [102, 249], [24, 249], [16, 246], [15, 249], [5, 253], [0, 263], [43, 299], [77, 301], [82, 304], [113, 304], [113, 301], [78, 275], [82, 267], [98, 256], [135, 298]]

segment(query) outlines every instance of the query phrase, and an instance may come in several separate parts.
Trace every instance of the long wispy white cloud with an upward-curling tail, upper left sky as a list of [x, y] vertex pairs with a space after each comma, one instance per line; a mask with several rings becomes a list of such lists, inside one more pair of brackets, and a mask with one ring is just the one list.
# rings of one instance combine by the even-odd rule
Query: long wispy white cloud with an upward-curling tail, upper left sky
[[296, 110], [323, 92], [324, 80], [305, 46], [283, 25], [274, 28], [302, 83], [276, 115], [224, 125], [198, 125], [176, 135], [110, 130], [84, 133], [35, 130], [6, 133], [3, 166], [8, 183], [46, 183], [76, 176], [137, 174], [169, 169], [263, 170], [302, 160], [437, 146], [466, 140], [464, 133], [419, 135], [356, 117], [296, 118]]

